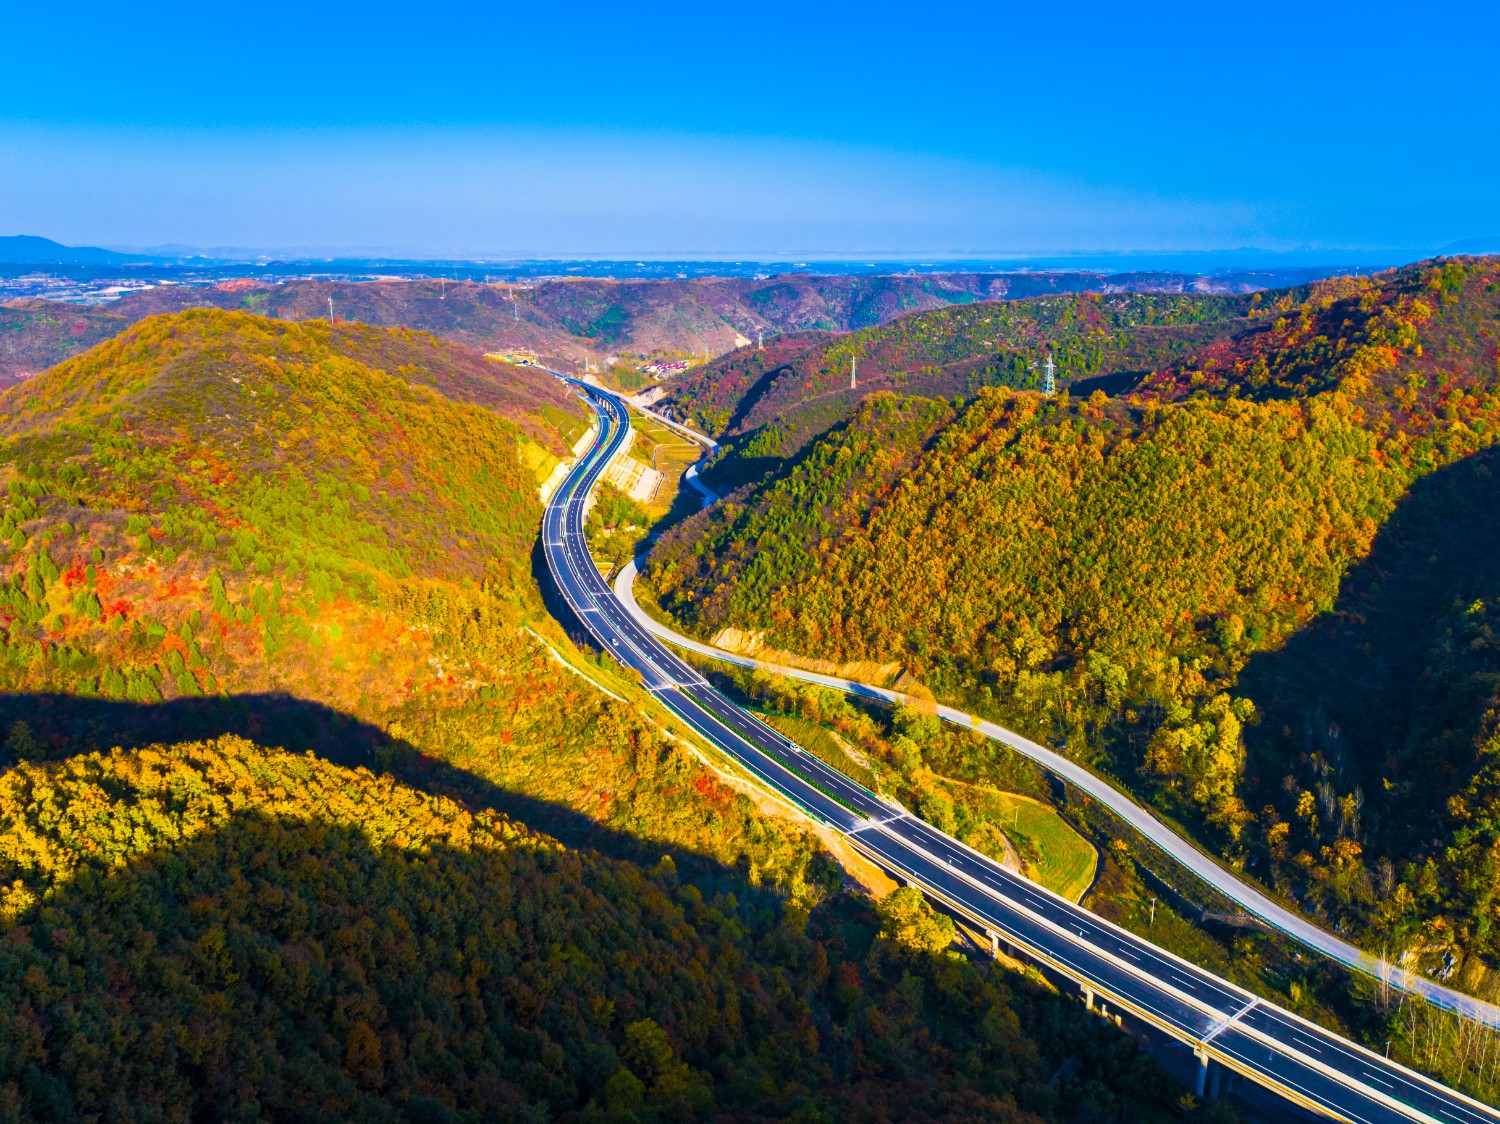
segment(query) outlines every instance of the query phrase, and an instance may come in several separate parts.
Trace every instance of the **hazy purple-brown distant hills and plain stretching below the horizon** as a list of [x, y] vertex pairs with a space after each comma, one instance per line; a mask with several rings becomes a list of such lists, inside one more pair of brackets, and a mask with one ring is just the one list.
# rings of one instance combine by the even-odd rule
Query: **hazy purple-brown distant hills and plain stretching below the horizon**
[[604, 356], [718, 356], [758, 333], [837, 330], [975, 300], [1095, 291], [1242, 293], [1276, 275], [1194, 278], [1174, 273], [927, 273], [886, 276], [591, 278], [536, 285], [386, 279], [286, 282], [232, 279], [159, 285], [98, 308], [46, 300], [0, 305], [0, 386], [32, 375], [136, 320], [189, 308], [249, 311], [280, 320], [333, 314], [382, 327], [412, 327], [484, 351], [530, 351], [558, 369]]

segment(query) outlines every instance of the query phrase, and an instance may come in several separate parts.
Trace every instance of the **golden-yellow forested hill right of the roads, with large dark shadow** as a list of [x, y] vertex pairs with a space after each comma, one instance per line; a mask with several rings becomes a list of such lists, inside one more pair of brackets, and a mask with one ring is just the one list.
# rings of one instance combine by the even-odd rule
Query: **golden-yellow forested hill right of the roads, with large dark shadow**
[[1488, 987], [1497, 267], [1323, 282], [1125, 398], [872, 396], [646, 579], [704, 636], [900, 660]]

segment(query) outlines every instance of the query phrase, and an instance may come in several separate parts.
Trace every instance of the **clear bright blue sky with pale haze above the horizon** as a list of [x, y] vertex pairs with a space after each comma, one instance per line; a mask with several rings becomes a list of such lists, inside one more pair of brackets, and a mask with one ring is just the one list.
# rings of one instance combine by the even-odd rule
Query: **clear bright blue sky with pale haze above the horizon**
[[1500, 5], [8, 5], [0, 234], [525, 257], [1500, 236]]

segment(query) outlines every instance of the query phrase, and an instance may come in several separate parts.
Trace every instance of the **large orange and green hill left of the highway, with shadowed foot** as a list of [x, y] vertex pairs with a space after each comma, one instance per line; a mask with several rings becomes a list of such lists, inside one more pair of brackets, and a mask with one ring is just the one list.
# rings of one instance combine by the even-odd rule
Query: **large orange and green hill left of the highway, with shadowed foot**
[[748, 842], [760, 825], [716, 785], [669, 815], [696, 768], [536, 635], [562, 642], [531, 573], [524, 453], [556, 437], [520, 410], [516, 372], [450, 354], [188, 312], [0, 398], [0, 759], [222, 729], [384, 764], [400, 750], [536, 815], [726, 860], [750, 848], [800, 882], [812, 845]]

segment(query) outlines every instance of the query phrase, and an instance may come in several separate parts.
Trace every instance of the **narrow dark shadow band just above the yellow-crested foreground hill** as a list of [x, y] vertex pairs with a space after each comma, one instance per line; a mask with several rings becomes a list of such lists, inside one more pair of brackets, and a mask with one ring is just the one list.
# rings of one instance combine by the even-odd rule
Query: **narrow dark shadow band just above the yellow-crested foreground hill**
[[642, 864], [670, 855], [684, 873], [692, 872], [712, 884], [728, 879], [735, 884], [735, 893], [754, 893], [741, 885], [744, 870], [730, 870], [700, 852], [616, 831], [572, 807], [501, 788], [429, 756], [378, 726], [292, 695], [231, 695], [154, 704], [62, 693], [0, 695], [0, 738], [4, 738], [0, 770], [18, 759], [60, 761], [111, 749], [207, 741], [225, 734], [262, 747], [314, 753], [344, 768], [390, 773], [405, 785], [448, 797], [471, 810], [501, 812], [576, 849]]

